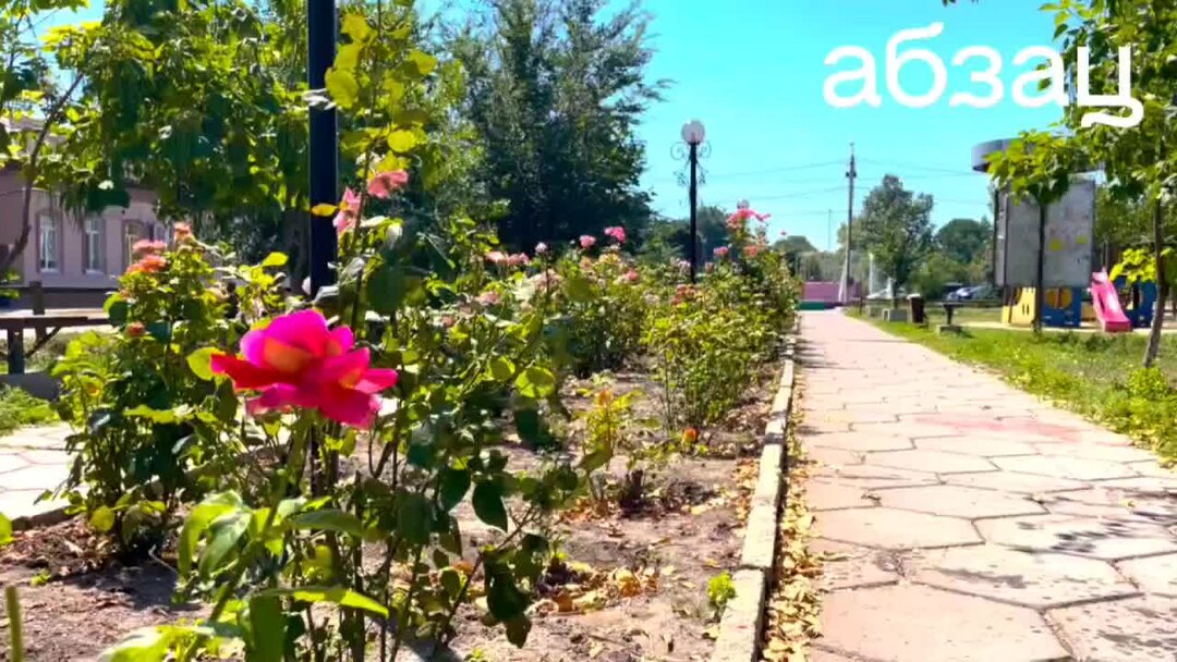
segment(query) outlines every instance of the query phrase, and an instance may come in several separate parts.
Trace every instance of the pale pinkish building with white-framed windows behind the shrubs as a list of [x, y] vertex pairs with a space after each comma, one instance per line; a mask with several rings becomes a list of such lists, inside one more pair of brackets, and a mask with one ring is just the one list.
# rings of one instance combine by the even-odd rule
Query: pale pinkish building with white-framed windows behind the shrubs
[[[24, 193], [20, 172], [0, 169], [0, 256], [7, 258], [20, 236]], [[49, 192], [34, 190], [28, 245], [13, 263], [18, 289], [40, 281], [47, 306], [100, 305], [105, 293], [118, 285], [119, 274], [134, 261], [132, 246], [141, 239], [167, 236], [166, 226], [155, 215], [155, 194], [132, 189], [129, 196], [127, 207], [107, 207], [79, 218], [62, 209]]]

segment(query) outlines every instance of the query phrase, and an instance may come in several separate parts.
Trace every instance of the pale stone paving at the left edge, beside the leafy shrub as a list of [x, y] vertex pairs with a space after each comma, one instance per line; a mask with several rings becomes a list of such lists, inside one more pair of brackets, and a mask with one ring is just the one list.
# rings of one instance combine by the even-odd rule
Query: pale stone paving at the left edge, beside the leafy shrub
[[35, 503], [47, 489], [66, 479], [68, 455], [66, 424], [21, 428], [0, 439], [0, 513], [6, 517], [34, 517], [61, 506], [64, 501]]

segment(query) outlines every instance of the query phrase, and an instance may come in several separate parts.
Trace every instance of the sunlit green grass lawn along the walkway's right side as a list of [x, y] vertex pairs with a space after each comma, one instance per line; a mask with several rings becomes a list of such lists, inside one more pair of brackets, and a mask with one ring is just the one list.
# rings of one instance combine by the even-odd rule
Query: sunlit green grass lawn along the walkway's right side
[[[865, 317], [860, 317], [865, 319]], [[966, 329], [866, 321], [951, 359], [995, 370], [1006, 381], [1177, 460], [1177, 337], [1165, 335], [1151, 370], [1141, 369], [1148, 336]]]

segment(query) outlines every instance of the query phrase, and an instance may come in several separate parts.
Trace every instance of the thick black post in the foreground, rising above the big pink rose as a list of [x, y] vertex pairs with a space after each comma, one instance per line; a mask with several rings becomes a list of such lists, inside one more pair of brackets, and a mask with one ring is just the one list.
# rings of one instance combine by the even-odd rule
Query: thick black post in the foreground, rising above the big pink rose
[[[334, 0], [307, 0], [307, 82], [311, 89], [326, 87], [326, 74], [335, 60], [338, 14]], [[339, 202], [339, 139], [334, 108], [311, 108], [311, 207]], [[331, 263], [338, 252], [331, 218], [311, 215], [311, 295], [334, 282]]]

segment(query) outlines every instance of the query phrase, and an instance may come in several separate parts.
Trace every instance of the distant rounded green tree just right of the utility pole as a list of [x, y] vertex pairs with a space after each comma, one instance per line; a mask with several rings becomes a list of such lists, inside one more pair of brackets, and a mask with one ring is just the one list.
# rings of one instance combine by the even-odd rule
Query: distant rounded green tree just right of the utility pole
[[932, 198], [905, 189], [899, 178], [886, 175], [866, 195], [855, 234], [896, 289], [906, 286], [916, 266], [932, 247]]

